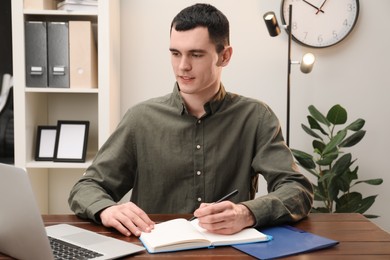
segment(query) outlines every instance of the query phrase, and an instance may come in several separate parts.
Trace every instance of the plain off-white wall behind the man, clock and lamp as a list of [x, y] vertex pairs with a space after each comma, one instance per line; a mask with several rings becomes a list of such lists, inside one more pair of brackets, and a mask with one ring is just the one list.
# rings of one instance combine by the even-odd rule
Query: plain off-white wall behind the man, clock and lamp
[[[169, 26], [182, 8], [196, 3], [190, 0], [122, 0], [121, 2], [121, 113], [134, 104], [170, 92], [174, 77], [171, 71]], [[231, 92], [251, 96], [268, 103], [279, 116], [286, 118], [287, 36], [268, 36], [262, 16], [273, 10], [279, 15], [280, 1], [213, 0], [207, 1], [229, 18], [233, 59], [225, 69], [223, 82]], [[308, 136], [300, 125], [306, 123], [307, 107], [314, 104], [326, 113], [334, 104], [349, 112], [349, 122], [366, 120], [367, 134], [351, 149], [359, 165], [359, 178], [383, 178], [381, 186], [360, 185], [365, 196], [379, 194], [371, 214], [373, 220], [390, 231], [389, 160], [390, 121], [387, 107], [390, 98], [390, 16], [388, 0], [360, 0], [358, 24], [349, 37], [326, 49], [309, 49], [296, 43], [293, 59], [313, 52], [317, 61], [311, 74], [293, 67], [291, 84], [290, 146], [311, 151]], [[281, 21], [279, 19], [279, 21]], [[309, 178], [311, 176], [306, 174]], [[264, 187], [262, 185], [261, 187]]]

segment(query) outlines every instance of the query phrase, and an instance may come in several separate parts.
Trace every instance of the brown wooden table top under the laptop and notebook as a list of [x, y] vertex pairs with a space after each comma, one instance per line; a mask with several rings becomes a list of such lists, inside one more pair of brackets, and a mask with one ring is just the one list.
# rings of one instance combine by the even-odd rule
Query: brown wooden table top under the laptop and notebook
[[[156, 222], [189, 215], [150, 215]], [[45, 225], [72, 224], [107, 236], [141, 244], [136, 237], [124, 237], [113, 229], [107, 229], [74, 215], [43, 215]], [[288, 259], [390, 259], [390, 234], [360, 214], [311, 214], [294, 224], [305, 231], [340, 241], [340, 244], [323, 250], [290, 256]], [[1, 241], [0, 241], [1, 242]], [[253, 259], [234, 248], [219, 247], [175, 253], [148, 254], [146, 251], [129, 256], [135, 259]], [[11, 259], [0, 254], [0, 259]], [[127, 259], [127, 258], [126, 258]]]

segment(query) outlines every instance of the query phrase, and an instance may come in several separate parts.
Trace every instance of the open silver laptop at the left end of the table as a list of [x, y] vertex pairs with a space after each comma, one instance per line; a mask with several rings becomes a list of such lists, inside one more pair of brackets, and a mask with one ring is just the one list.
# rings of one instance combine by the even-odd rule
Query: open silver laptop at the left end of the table
[[91, 259], [115, 259], [145, 250], [68, 224], [45, 228], [26, 170], [1, 163], [0, 209], [0, 252], [18, 259], [54, 259], [49, 237], [86, 248], [88, 254], [95, 252]]

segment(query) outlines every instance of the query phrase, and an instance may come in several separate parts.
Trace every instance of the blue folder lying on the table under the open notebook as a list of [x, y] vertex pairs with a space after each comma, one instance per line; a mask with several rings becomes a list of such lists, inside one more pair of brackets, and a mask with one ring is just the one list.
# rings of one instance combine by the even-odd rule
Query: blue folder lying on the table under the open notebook
[[273, 240], [233, 247], [258, 259], [273, 259], [319, 250], [339, 243], [287, 225], [264, 228], [260, 232], [272, 236]]

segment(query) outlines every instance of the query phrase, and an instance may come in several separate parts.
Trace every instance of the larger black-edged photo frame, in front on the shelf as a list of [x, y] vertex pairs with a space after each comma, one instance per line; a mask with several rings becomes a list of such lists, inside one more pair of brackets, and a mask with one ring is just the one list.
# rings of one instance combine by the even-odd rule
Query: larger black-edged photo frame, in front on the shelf
[[57, 122], [54, 148], [55, 162], [85, 162], [88, 143], [89, 121]]

